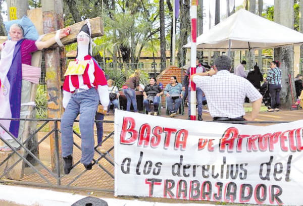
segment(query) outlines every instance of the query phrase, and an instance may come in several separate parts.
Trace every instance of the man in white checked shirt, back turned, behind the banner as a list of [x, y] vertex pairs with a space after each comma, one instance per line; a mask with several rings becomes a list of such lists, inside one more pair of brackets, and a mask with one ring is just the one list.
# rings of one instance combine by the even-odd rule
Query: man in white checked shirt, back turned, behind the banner
[[[204, 91], [214, 121], [253, 121], [259, 114], [262, 95], [248, 80], [231, 74], [230, 68], [231, 59], [219, 56], [213, 70], [190, 78]], [[252, 102], [250, 115], [245, 115], [245, 96]]]

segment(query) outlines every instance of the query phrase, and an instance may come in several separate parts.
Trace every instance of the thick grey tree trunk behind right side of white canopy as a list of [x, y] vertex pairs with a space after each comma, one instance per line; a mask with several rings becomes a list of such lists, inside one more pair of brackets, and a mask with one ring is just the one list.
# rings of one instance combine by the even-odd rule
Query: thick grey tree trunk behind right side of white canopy
[[[293, 29], [294, 22], [294, 11], [293, 11], [294, 0], [283, 1], [275, 0], [274, 3], [274, 21]], [[281, 108], [289, 109], [292, 104], [290, 84], [292, 87], [293, 96], [295, 96], [294, 80], [293, 80], [293, 46], [285, 46], [275, 48], [274, 60], [281, 63], [280, 69], [282, 71], [282, 89], [280, 91]], [[289, 82], [290, 75], [291, 80]]]

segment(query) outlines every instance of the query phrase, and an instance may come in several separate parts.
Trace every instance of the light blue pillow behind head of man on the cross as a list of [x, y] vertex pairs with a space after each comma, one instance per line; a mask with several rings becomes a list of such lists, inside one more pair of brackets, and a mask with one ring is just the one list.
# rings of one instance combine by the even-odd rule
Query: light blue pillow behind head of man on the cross
[[23, 16], [21, 19], [4, 22], [9, 39], [12, 39], [9, 34], [9, 31], [13, 24], [20, 24], [22, 26], [22, 28], [24, 30], [24, 38], [31, 39], [31, 40], [37, 40], [39, 38], [38, 31], [37, 31], [35, 25], [30, 20], [30, 18], [28, 18], [27, 16]]

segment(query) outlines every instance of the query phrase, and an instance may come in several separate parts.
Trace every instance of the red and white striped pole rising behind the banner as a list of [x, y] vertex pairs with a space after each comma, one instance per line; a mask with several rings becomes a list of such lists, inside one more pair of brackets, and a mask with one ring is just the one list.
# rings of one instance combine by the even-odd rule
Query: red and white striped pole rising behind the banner
[[[190, 76], [196, 73], [196, 55], [197, 55], [197, 0], [191, 0], [191, 49], [190, 49]], [[196, 88], [195, 83], [190, 84], [190, 120], [196, 119]]]

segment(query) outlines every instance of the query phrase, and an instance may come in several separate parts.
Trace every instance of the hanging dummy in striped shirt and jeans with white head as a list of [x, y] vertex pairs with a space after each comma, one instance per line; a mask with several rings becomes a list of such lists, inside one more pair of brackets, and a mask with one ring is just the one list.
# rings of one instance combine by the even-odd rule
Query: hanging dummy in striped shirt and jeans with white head
[[87, 170], [92, 168], [94, 154], [93, 124], [99, 101], [107, 110], [109, 92], [104, 72], [91, 57], [91, 32], [86, 20], [77, 35], [77, 57], [70, 62], [63, 84], [63, 107], [61, 121], [61, 149], [64, 172], [69, 174], [73, 168], [73, 123], [80, 114], [81, 160]]

